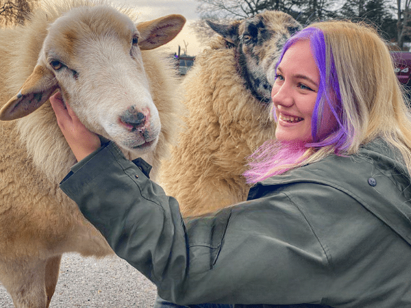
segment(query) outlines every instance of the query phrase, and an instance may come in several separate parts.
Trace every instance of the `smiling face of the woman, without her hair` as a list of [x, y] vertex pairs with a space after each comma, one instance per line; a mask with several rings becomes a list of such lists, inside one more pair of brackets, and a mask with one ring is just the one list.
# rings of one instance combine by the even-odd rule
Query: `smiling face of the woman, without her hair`
[[[277, 140], [312, 142], [311, 119], [319, 90], [320, 74], [310, 49], [310, 41], [292, 44], [277, 67], [271, 98], [277, 116]], [[336, 125], [329, 108], [323, 112], [326, 127], [320, 138]], [[331, 120], [334, 119], [334, 120]]]

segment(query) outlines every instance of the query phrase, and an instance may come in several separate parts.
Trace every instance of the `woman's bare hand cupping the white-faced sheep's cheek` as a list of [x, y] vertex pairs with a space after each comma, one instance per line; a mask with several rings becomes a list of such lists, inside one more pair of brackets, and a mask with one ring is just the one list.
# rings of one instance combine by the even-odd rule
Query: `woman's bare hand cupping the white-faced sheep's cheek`
[[77, 158], [77, 162], [99, 149], [101, 146], [99, 136], [86, 129], [69, 104], [64, 105], [60, 92], [50, 97], [50, 103], [57, 117], [58, 126]]

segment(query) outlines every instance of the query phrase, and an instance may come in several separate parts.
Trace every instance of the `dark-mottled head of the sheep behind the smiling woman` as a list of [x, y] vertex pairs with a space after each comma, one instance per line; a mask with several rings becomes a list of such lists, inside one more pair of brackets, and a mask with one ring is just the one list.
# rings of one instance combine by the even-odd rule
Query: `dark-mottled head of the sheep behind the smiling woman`
[[253, 96], [269, 104], [279, 52], [301, 25], [290, 15], [277, 11], [266, 11], [228, 25], [207, 23], [223, 36], [228, 47], [236, 49], [238, 72]]

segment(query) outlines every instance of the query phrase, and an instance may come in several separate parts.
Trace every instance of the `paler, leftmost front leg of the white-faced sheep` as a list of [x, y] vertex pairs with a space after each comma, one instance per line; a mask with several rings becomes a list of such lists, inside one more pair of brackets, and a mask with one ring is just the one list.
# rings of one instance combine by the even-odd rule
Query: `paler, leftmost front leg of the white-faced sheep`
[[45, 308], [46, 260], [0, 264], [0, 280], [16, 308]]

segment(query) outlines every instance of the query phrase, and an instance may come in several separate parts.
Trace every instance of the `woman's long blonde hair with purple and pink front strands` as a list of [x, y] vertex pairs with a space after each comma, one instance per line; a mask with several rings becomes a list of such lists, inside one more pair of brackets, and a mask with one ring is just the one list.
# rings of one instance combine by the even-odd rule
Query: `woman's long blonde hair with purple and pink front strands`
[[[336, 92], [337, 98], [332, 104], [340, 127], [324, 140], [315, 140], [302, 147], [284, 148], [284, 142], [267, 142], [251, 155], [251, 168], [245, 172], [247, 181], [256, 183], [286, 170], [318, 162], [331, 153], [356, 154], [360, 146], [377, 137], [399, 150], [411, 174], [411, 117], [384, 40], [365, 23], [327, 21], [313, 23], [302, 31], [311, 33], [313, 28], [314, 32], [318, 32], [317, 29], [321, 31], [325, 42], [327, 72], [323, 82], [326, 82], [327, 89]], [[291, 44], [307, 38], [301, 34], [296, 37], [294, 40], [290, 38], [282, 55]], [[308, 39], [313, 47], [311, 36]], [[321, 112], [327, 100], [321, 95], [327, 94], [319, 93], [317, 98], [319, 112], [315, 119], [313, 112], [315, 127], [317, 122], [321, 125]], [[314, 127], [312, 135], [315, 136]], [[336, 138], [337, 135], [341, 138]], [[291, 158], [282, 160], [284, 153], [281, 152], [289, 152], [290, 149]]]

